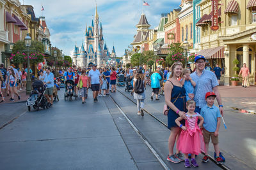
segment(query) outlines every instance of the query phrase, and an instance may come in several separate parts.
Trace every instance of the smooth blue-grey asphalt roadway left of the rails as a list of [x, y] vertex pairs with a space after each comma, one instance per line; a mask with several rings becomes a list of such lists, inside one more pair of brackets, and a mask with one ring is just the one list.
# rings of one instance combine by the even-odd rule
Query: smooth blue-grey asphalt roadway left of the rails
[[138, 169], [104, 100], [64, 101], [61, 90], [52, 108], [0, 130], [0, 169]]

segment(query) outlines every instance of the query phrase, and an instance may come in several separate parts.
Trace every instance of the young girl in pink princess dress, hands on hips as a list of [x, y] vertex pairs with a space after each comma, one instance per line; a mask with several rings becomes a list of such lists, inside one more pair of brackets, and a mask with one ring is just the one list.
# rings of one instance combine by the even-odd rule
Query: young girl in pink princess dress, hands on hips
[[[202, 132], [200, 127], [202, 127], [204, 118], [200, 116], [199, 113], [195, 113], [196, 103], [195, 101], [188, 100], [186, 103], [186, 108], [188, 109], [188, 113], [186, 113], [186, 123], [185, 126], [180, 124], [180, 121], [183, 119], [179, 117], [175, 120], [176, 124], [182, 129], [180, 132], [179, 139], [177, 141], [177, 146], [180, 152], [185, 155], [185, 167], [198, 167], [198, 164], [195, 160], [195, 155], [200, 153], [200, 136], [202, 136]], [[197, 125], [198, 119], [200, 120]], [[188, 153], [191, 153], [191, 165], [188, 160]]]

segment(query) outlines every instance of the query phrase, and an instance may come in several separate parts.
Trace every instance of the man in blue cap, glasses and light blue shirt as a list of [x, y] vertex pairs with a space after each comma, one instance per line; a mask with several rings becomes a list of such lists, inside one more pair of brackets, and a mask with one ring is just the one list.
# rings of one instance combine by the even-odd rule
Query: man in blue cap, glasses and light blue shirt
[[197, 55], [195, 57], [196, 71], [190, 74], [193, 81], [196, 83], [195, 87], [195, 97], [196, 110], [195, 112], [200, 113], [201, 108], [206, 104], [205, 94], [207, 92], [214, 92], [216, 94], [216, 99], [219, 104], [219, 109], [221, 115], [223, 115], [223, 105], [221, 101], [220, 92], [218, 89], [218, 80], [216, 75], [212, 71], [205, 69], [205, 57], [203, 55]]

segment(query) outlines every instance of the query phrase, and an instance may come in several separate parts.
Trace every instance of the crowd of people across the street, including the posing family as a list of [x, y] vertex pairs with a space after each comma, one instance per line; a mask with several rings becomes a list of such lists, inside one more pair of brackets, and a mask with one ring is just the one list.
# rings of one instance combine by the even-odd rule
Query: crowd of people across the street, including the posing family
[[[175, 62], [172, 67], [157, 67], [154, 73], [143, 69], [143, 67], [129, 67], [126, 70], [122, 67], [97, 68], [92, 65], [86, 69], [72, 66], [66, 71], [60, 70], [58, 74], [63, 76], [67, 83], [65, 90], [68, 94], [74, 92], [75, 96], [81, 96], [82, 103], [86, 103], [88, 89], [92, 89], [93, 102], [97, 102], [97, 97], [106, 97], [109, 92], [116, 92], [116, 80], [124, 76], [127, 83], [131, 83], [131, 95], [137, 101], [138, 115], [144, 116], [146, 88], [150, 85], [152, 94], [150, 99], [158, 101], [161, 95], [164, 96], [165, 114], [168, 118], [168, 129], [171, 130], [168, 138], [169, 154], [167, 160], [173, 163], [185, 161], [185, 166], [198, 166], [195, 156], [200, 153], [204, 145], [205, 156], [202, 162], [208, 162], [209, 141], [212, 140], [216, 153], [216, 161], [222, 164], [225, 161], [221, 155], [218, 145], [218, 134], [220, 129], [220, 118], [223, 116], [223, 105], [221, 102], [218, 85], [220, 83], [221, 69], [218, 65], [211, 69], [205, 67], [204, 56], [195, 57], [196, 69], [192, 71], [190, 67], [183, 69], [181, 62]], [[4, 69], [0, 65], [0, 93], [2, 101], [4, 96], [2, 90], [6, 90], [14, 101], [15, 96], [20, 99], [18, 90], [26, 87], [26, 74], [28, 70], [15, 69], [10, 66]], [[246, 68], [244, 68], [246, 71]], [[245, 74], [245, 71], [241, 71]], [[45, 97], [48, 103], [53, 104], [52, 90], [54, 85], [60, 85], [61, 78], [54, 78], [51, 67], [43, 68], [38, 72], [38, 80], [44, 82], [46, 90]], [[244, 76], [244, 75], [243, 75]], [[70, 80], [70, 81], [68, 81]], [[129, 81], [129, 82], [128, 82]], [[246, 80], [244, 80], [246, 81]], [[243, 83], [246, 86], [245, 83]], [[73, 91], [74, 90], [74, 91]], [[217, 99], [219, 107], [214, 106]], [[200, 138], [200, 136], [203, 136]], [[204, 139], [202, 141], [202, 139]], [[176, 153], [173, 147], [176, 145]], [[182, 154], [184, 153], [184, 154]], [[189, 162], [188, 157], [191, 157]]]

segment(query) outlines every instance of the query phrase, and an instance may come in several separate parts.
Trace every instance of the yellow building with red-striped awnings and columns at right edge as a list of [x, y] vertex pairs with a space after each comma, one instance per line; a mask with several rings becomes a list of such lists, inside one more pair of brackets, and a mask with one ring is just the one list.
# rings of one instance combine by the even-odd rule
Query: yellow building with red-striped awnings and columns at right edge
[[224, 84], [230, 85], [230, 78], [236, 75], [233, 61], [239, 60], [239, 69], [243, 63], [250, 69], [250, 84], [255, 84], [256, 52], [256, 1], [221, 0], [218, 9], [220, 28], [211, 30], [211, 0], [203, 0], [198, 5], [202, 18], [196, 23], [200, 26], [200, 52], [212, 67], [219, 64], [225, 68]]

